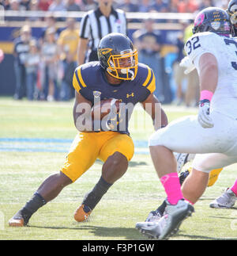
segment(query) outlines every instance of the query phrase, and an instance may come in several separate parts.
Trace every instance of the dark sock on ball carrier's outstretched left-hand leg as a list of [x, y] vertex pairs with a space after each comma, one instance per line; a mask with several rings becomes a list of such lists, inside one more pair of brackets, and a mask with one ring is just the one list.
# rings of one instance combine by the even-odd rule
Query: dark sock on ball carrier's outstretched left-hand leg
[[34, 193], [32, 198], [18, 211], [13, 218], [14, 219], [24, 219], [24, 225], [28, 224], [28, 220], [34, 212], [36, 212], [40, 207], [46, 204], [46, 201], [39, 193]]

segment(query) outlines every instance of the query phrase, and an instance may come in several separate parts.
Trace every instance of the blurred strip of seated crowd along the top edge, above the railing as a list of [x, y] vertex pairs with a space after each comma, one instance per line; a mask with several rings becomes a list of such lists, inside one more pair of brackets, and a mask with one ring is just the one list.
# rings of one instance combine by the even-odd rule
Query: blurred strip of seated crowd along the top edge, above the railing
[[[116, 0], [115, 8], [126, 12], [194, 13], [208, 6], [227, 6], [226, 0]], [[94, 0], [0, 0], [5, 10], [88, 11]]]

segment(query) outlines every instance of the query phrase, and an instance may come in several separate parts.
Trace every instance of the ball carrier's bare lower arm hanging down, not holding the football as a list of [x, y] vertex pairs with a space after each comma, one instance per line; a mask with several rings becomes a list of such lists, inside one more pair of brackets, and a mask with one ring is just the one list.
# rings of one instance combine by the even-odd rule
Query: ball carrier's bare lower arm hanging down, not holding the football
[[162, 109], [160, 101], [154, 94], [150, 94], [141, 105], [147, 113], [152, 117], [155, 130], [163, 128], [167, 125], [167, 115]]

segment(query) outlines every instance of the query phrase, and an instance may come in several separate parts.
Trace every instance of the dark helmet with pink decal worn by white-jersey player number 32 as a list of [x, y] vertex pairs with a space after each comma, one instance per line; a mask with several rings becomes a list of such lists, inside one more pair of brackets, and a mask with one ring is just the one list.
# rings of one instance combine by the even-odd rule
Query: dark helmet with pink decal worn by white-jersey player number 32
[[231, 23], [228, 13], [218, 7], [208, 7], [201, 10], [194, 20], [193, 33], [206, 31], [217, 34], [230, 34]]

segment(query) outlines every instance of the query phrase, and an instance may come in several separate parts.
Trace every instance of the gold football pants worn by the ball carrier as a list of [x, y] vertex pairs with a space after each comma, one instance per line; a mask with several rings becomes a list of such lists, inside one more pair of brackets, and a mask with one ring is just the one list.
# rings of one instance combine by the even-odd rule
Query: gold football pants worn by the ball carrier
[[96, 159], [103, 162], [119, 152], [130, 161], [134, 155], [134, 142], [119, 132], [79, 132], [70, 147], [62, 173], [73, 182], [88, 170]]

